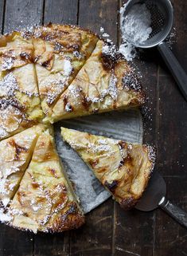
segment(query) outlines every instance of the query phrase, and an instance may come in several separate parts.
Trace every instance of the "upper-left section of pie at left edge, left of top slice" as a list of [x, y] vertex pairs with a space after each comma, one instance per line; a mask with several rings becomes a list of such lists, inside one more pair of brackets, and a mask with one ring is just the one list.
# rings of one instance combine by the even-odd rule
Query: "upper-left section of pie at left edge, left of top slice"
[[0, 38], [0, 140], [41, 120], [32, 39], [14, 32]]

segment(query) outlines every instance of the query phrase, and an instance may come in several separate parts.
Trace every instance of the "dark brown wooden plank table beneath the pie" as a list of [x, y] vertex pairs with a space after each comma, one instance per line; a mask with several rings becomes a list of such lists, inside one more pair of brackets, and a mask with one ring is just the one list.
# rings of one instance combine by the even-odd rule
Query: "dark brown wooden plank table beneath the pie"
[[[100, 26], [119, 43], [118, 0], [0, 0], [2, 33], [33, 23], [79, 24], [99, 33]], [[187, 71], [187, 1], [173, 0], [177, 42], [173, 53]], [[156, 169], [164, 175], [167, 195], [187, 211], [187, 104], [156, 50], [137, 61], [149, 96], [145, 142], [156, 144]], [[152, 119], [152, 120], [149, 120]], [[185, 256], [187, 233], [162, 210], [125, 212], [112, 199], [87, 215], [80, 230], [30, 234], [0, 225], [2, 256]]]

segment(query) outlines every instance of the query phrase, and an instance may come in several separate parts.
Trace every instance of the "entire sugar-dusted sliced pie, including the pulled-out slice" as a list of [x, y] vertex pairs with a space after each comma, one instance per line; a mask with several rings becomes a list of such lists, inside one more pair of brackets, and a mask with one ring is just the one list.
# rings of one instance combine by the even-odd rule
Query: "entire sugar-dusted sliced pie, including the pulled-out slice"
[[[51, 124], [144, 101], [115, 45], [89, 30], [49, 24], [1, 36], [0, 221], [35, 233], [81, 226]], [[123, 207], [134, 206], [154, 166], [149, 147], [65, 128], [62, 135]]]

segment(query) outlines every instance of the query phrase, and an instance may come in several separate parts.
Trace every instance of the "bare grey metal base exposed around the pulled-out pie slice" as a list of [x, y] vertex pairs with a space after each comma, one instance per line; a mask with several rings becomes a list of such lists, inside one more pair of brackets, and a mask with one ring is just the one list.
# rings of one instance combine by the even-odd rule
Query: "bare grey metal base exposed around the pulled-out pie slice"
[[57, 151], [72, 181], [76, 195], [80, 199], [84, 213], [88, 213], [107, 200], [110, 194], [95, 178], [80, 156], [64, 143], [60, 136], [61, 126], [142, 144], [142, 116], [139, 110], [131, 109], [64, 120], [54, 125]]

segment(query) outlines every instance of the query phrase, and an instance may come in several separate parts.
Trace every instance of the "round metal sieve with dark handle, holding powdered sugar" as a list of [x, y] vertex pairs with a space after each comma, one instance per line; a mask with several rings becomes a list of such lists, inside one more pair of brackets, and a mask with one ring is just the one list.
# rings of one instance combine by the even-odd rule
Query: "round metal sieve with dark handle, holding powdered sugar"
[[[173, 27], [173, 6], [169, 0], [130, 0], [127, 2], [126, 8], [121, 15], [126, 16], [132, 6], [142, 3], [145, 3], [146, 8], [150, 11], [152, 33], [150, 33], [150, 37], [146, 41], [139, 43], [134, 43], [131, 37], [127, 37], [127, 35], [125, 37], [135, 47], [143, 49], [154, 46], [158, 47], [166, 65], [181, 89], [181, 93], [183, 93], [185, 100], [187, 100], [187, 75], [166, 42], [164, 42]], [[123, 27], [123, 22], [124, 19], [121, 17], [121, 27]]]

